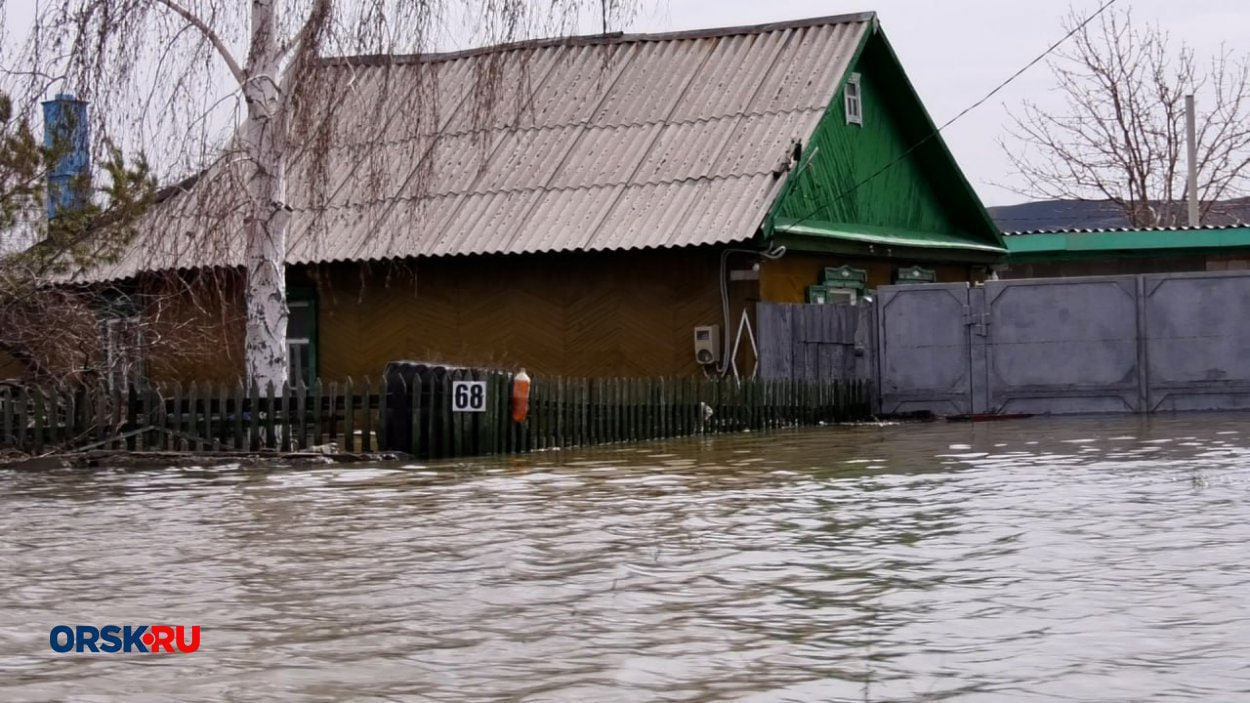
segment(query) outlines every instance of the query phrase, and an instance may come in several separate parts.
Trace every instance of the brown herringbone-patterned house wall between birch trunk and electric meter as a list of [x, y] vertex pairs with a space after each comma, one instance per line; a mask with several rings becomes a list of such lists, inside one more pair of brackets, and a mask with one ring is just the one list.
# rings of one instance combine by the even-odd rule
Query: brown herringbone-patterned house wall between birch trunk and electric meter
[[[714, 250], [434, 259], [324, 266], [320, 373], [378, 377], [412, 359], [575, 377], [688, 375], [692, 329], [720, 324]], [[740, 314], [755, 284], [735, 283]]]

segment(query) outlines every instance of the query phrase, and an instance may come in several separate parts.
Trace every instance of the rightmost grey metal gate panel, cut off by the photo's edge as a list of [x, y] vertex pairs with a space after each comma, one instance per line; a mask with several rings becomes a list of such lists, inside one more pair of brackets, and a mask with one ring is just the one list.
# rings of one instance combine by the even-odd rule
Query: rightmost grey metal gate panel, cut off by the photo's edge
[[1149, 412], [1250, 409], [1250, 273], [1142, 279]]

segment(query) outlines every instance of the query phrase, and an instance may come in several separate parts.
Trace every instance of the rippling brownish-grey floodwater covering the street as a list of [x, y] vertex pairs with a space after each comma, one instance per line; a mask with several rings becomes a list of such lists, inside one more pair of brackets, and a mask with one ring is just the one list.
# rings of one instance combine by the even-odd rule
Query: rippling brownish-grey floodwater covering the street
[[1246, 699], [1248, 420], [0, 470], [0, 700]]

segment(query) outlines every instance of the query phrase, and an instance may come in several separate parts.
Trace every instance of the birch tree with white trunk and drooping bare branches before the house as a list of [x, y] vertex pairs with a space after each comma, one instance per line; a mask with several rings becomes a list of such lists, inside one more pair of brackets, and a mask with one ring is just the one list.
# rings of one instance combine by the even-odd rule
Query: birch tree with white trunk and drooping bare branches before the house
[[[98, 131], [170, 138], [164, 149], [149, 150], [154, 161], [200, 169], [225, 146], [246, 163], [245, 365], [261, 384], [280, 384], [289, 370], [288, 169], [298, 153], [325, 153], [319, 129], [335, 110], [374, 108], [351, 104], [341, 86], [322, 80], [322, 60], [368, 55], [385, 63], [456, 39], [494, 44], [568, 34], [585, 13], [606, 28], [630, 6], [630, 0], [48, 0], [16, 65], [28, 98], [68, 89], [92, 101]], [[458, 18], [465, 20], [462, 31]], [[489, 78], [480, 76], [485, 94]], [[224, 144], [211, 136], [222, 105], [234, 116]], [[415, 115], [411, 121], [420, 129]]]

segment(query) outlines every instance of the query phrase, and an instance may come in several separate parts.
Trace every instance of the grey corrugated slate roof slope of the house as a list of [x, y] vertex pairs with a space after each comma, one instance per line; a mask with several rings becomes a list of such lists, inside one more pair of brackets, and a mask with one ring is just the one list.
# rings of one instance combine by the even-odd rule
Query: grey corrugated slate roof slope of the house
[[[290, 165], [288, 260], [750, 239], [779, 164], [812, 134], [874, 23], [861, 14], [329, 60], [322, 70], [351, 106], [332, 114], [328, 144]], [[501, 71], [492, 106], [472, 89], [488, 71]], [[245, 178], [244, 161], [222, 159], [90, 278], [240, 264]]]

